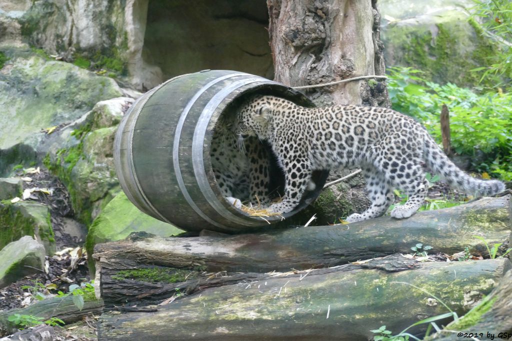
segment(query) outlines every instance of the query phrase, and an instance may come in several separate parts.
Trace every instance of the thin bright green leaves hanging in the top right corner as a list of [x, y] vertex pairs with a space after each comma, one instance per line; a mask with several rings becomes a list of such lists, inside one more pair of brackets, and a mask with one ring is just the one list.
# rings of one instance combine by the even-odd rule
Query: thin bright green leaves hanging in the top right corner
[[[501, 53], [488, 57], [489, 66], [477, 67], [471, 71], [485, 70], [480, 81], [493, 76], [512, 78], [512, 2], [510, 0], [473, 0], [473, 18], [482, 22], [481, 35], [497, 42]], [[498, 83], [496, 86], [507, 85]]]

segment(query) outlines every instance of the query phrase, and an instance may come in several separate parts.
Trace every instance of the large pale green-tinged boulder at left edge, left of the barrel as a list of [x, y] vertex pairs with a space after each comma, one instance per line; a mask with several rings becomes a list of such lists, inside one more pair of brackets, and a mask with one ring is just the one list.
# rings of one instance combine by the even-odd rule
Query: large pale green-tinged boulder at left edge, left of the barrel
[[[2, 49], [0, 49], [1, 51]], [[116, 82], [32, 51], [4, 50], [0, 70], [0, 174], [12, 165], [42, 159], [52, 145], [66, 145], [66, 126], [98, 100], [122, 95]], [[62, 148], [62, 147], [61, 147]]]

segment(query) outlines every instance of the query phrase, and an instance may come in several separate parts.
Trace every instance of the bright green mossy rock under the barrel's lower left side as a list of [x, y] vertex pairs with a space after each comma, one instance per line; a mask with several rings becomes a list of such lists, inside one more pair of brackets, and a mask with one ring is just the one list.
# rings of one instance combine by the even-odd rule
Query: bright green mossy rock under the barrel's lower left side
[[[94, 245], [126, 238], [132, 232], [148, 232], [162, 237], [174, 236], [183, 231], [173, 225], [157, 220], [139, 211], [124, 193], [110, 201], [94, 220], [87, 235], [87, 254], [92, 255]], [[89, 269], [95, 273], [92, 257]]]

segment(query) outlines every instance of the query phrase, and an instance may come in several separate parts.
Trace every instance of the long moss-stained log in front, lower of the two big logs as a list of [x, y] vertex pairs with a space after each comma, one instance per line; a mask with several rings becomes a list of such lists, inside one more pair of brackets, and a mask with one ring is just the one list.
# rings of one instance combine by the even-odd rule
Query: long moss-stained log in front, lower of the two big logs
[[404, 283], [430, 292], [462, 315], [475, 295], [488, 294], [509, 268], [508, 259], [502, 258], [422, 263], [400, 272], [338, 267], [327, 274], [267, 275], [207, 288], [151, 312], [104, 313], [98, 339], [369, 339], [370, 330], [381, 325], [400, 331], [447, 312], [430, 294]]

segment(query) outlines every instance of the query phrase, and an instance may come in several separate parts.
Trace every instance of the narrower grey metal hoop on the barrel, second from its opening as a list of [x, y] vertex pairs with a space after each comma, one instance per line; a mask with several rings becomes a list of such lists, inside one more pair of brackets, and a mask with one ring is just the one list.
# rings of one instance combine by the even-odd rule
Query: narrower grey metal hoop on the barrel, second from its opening
[[[190, 205], [190, 207], [194, 211], [196, 211], [196, 213], [201, 218], [203, 218], [204, 220], [208, 221], [210, 224], [218, 226], [219, 228], [228, 229], [228, 230], [232, 230], [232, 229], [230, 229], [227, 226], [224, 226], [224, 225], [218, 223], [217, 221], [212, 220], [210, 217], [208, 217], [203, 211], [201, 211], [201, 209], [197, 206], [197, 204], [194, 202], [194, 200], [190, 197], [190, 194], [188, 193], [188, 191], [186, 189], [186, 186], [185, 186], [185, 183], [183, 181], [183, 177], [181, 176], [181, 169], [180, 169], [180, 163], [179, 163], [179, 157], [180, 157], [179, 145], [180, 145], [181, 129], [183, 128], [183, 124], [185, 123], [185, 120], [187, 118], [188, 112], [190, 111], [191, 107], [196, 103], [198, 98], [208, 88], [210, 88], [212, 85], [214, 85], [216, 83], [219, 83], [219, 82], [221, 82], [221, 81], [223, 81], [225, 79], [232, 78], [232, 77], [237, 77], [237, 76], [249, 76], [249, 75], [245, 74], [245, 73], [236, 73], [236, 74], [230, 74], [230, 75], [222, 76], [222, 77], [219, 77], [219, 78], [216, 78], [216, 79], [210, 81], [209, 83], [207, 83], [206, 85], [204, 85], [203, 87], [201, 87], [198, 90], [198, 92], [194, 95], [194, 97], [192, 97], [188, 101], [187, 105], [185, 106], [185, 108], [183, 109], [183, 111], [181, 113], [180, 119], [178, 120], [178, 124], [176, 125], [176, 132], [175, 132], [175, 135], [174, 135], [174, 144], [173, 144], [173, 166], [174, 166], [174, 172], [175, 172], [176, 180], [178, 182], [178, 186], [180, 187], [181, 193], [183, 194], [183, 196], [187, 200], [188, 204]], [[194, 133], [194, 135], [195, 135], [195, 133]], [[203, 143], [203, 141], [201, 141], [201, 144], [202, 143]], [[194, 152], [194, 147], [193, 147], [193, 152]], [[193, 160], [193, 162], [194, 162], [194, 160]], [[202, 167], [204, 168], [204, 165], [202, 165]], [[194, 166], [194, 168], [196, 168], [196, 167]], [[217, 200], [217, 198], [215, 198], [215, 200]]]

